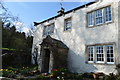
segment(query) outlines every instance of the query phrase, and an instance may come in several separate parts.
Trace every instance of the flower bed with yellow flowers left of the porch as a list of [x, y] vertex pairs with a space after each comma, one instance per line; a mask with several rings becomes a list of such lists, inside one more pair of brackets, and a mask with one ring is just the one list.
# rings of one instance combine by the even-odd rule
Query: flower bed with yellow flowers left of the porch
[[[15, 78], [18, 74], [24, 75], [24, 76], [35, 76], [39, 72], [34, 72], [34, 74], [31, 74], [32, 71], [37, 71], [35, 68], [37, 65], [30, 65], [30, 66], [25, 66], [25, 67], [8, 67], [6, 69], [0, 69], [0, 72], [2, 72], [3, 77], [10, 77], [10, 78]], [[40, 73], [39, 73], [40, 74]]]

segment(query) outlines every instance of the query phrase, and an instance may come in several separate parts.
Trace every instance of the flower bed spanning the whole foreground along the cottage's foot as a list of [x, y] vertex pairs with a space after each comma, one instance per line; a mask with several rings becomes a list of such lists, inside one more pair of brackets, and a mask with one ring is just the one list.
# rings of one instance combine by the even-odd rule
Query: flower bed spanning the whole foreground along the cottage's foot
[[[17, 79], [19, 77], [19, 80], [25, 76], [35, 76], [33, 80], [98, 80], [85, 77], [85, 75], [87, 75], [87, 77], [88, 75], [92, 76], [93, 73], [71, 73], [64, 68], [53, 69], [52, 73], [40, 73], [37, 70], [37, 65], [8, 67], [7, 69], [0, 69], [0, 71], [3, 71], [3, 77]], [[22, 75], [22, 77], [18, 76], [18, 74]], [[120, 75], [105, 75], [102, 80], [120, 80]]]

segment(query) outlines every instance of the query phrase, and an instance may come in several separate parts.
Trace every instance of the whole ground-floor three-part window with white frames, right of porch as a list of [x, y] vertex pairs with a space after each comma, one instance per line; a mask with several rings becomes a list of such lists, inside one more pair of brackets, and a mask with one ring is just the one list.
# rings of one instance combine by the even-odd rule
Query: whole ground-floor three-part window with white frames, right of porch
[[114, 45], [88, 45], [88, 63], [114, 64]]

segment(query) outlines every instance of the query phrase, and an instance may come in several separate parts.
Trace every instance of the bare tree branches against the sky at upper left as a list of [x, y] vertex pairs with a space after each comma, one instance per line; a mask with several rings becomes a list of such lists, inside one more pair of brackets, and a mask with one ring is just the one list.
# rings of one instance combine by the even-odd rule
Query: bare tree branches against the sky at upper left
[[19, 30], [23, 28], [23, 22], [20, 21], [18, 16], [13, 16], [12, 13], [4, 6], [4, 3], [0, 1], [0, 19], [2, 20], [2, 25], [4, 27], [17, 26], [17, 23], [21, 23], [19, 26]]

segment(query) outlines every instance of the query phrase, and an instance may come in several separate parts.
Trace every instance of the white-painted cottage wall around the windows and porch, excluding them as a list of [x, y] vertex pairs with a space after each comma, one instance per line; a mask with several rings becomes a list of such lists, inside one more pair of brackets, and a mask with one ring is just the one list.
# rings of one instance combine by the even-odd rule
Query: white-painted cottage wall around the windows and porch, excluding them
[[[107, 1], [107, 2], [105, 2]], [[112, 2], [113, 1], [113, 2]], [[113, 8], [113, 22], [110, 24], [104, 24], [94, 28], [86, 27], [86, 13], [95, 9], [102, 8], [107, 5], [112, 5]], [[64, 31], [64, 19], [72, 17], [72, 30]], [[37, 45], [40, 49], [40, 43], [43, 40], [43, 27], [55, 23], [54, 34], [52, 38], [61, 40], [69, 47], [68, 53], [68, 67], [71, 72], [104, 72], [106, 74], [114, 71], [115, 65], [108, 64], [87, 64], [85, 63], [85, 45], [98, 44], [98, 43], [111, 43], [115, 42], [116, 46], [116, 60], [119, 59], [117, 54], [118, 49], [118, 2], [114, 0], [103, 0], [94, 3], [86, 8], [81, 8], [75, 12], [68, 13], [64, 16], [50, 20], [43, 24], [39, 24], [35, 28], [35, 36], [33, 40], [34, 45]], [[40, 50], [39, 50], [40, 51]], [[40, 52], [39, 52], [40, 55]], [[120, 60], [120, 59], [119, 59]], [[39, 57], [38, 57], [39, 62]], [[116, 64], [118, 61], [116, 62]], [[40, 63], [39, 63], [40, 64]]]

